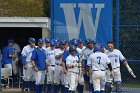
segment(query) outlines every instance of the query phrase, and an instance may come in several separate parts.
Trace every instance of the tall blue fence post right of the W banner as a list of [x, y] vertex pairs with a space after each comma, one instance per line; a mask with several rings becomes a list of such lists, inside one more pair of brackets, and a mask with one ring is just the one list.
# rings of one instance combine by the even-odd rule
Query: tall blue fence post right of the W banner
[[116, 48], [120, 45], [120, 0], [116, 0]]

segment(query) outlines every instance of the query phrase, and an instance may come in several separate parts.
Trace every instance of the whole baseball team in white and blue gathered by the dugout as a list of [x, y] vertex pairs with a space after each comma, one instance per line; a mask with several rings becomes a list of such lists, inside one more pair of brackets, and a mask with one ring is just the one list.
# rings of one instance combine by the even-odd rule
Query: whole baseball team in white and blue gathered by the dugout
[[31, 37], [20, 52], [18, 48], [14, 51], [14, 41], [9, 39], [0, 57], [4, 68], [17, 73], [17, 56], [21, 54], [22, 91], [122, 93], [120, 63], [134, 78], [136, 76], [122, 53], [115, 49], [115, 42], [108, 41], [106, 46], [91, 39], [67, 41], [46, 37], [35, 40]]

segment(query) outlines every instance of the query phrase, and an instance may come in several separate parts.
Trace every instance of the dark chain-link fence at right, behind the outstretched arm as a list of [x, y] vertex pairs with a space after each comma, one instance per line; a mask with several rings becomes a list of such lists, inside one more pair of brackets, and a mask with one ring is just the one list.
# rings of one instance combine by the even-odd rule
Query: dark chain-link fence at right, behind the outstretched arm
[[[113, 2], [113, 15], [116, 19], [116, 0]], [[117, 38], [116, 22], [113, 20], [113, 36], [119, 39], [119, 49], [128, 60], [130, 67], [137, 76], [135, 79], [129, 74], [126, 67], [121, 64], [123, 91], [126, 93], [140, 93], [140, 9], [139, 0], [120, 0], [120, 25]]]

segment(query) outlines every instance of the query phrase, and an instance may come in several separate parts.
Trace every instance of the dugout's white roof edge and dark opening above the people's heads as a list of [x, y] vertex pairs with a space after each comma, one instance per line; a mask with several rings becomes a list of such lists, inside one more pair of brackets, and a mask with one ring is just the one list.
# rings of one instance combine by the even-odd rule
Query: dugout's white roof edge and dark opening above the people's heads
[[47, 17], [0, 17], [0, 48], [7, 45], [8, 39], [14, 39], [23, 48], [29, 37], [49, 37], [49, 25]]

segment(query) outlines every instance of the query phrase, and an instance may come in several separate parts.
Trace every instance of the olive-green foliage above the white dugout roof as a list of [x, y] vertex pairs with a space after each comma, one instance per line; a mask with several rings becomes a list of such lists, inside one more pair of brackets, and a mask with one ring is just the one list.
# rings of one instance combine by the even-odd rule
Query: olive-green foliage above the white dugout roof
[[0, 0], [0, 16], [41, 17], [44, 0]]

